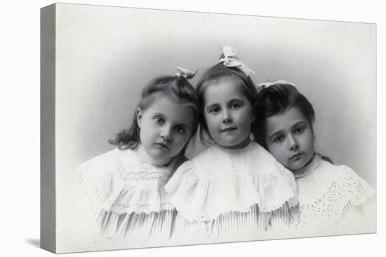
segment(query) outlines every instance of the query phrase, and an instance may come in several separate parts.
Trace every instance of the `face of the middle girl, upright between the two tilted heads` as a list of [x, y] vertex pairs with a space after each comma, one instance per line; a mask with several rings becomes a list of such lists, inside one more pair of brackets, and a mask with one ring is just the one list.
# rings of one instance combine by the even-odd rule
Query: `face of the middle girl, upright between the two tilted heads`
[[204, 118], [216, 144], [224, 148], [243, 148], [249, 143], [252, 106], [241, 92], [241, 78], [209, 81], [204, 92]]

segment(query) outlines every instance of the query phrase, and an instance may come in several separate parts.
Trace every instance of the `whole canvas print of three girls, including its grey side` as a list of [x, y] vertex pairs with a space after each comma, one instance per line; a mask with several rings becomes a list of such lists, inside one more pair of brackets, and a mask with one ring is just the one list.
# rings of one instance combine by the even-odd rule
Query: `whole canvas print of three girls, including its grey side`
[[41, 9], [41, 246], [375, 232], [375, 25]]

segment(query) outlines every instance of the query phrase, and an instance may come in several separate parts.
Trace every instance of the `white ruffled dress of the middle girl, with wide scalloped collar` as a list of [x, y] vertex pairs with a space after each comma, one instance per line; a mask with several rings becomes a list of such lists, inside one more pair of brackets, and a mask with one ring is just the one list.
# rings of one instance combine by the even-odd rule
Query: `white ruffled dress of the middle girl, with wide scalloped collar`
[[260, 238], [273, 211], [288, 214], [286, 207], [298, 204], [292, 172], [253, 141], [237, 150], [209, 147], [182, 164], [165, 189], [178, 210], [173, 238], [181, 242]]

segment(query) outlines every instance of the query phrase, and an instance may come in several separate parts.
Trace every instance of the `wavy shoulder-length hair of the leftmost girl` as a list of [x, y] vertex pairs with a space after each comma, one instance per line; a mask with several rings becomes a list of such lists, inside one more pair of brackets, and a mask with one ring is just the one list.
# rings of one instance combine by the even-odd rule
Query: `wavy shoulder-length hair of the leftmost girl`
[[[133, 121], [128, 130], [122, 130], [115, 139], [110, 139], [109, 143], [118, 146], [119, 149], [135, 149], [140, 144], [140, 127], [137, 121], [138, 107], [145, 111], [154, 102], [156, 95], [168, 97], [176, 104], [189, 106], [194, 113], [194, 122], [192, 127], [192, 137], [196, 133], [199, 124], [199, 104], [196, 90], [183, 76], [159, 76], [150, 81], [142, 90], [141, 100], [134, 111]], [[185, 153], [182, 148], [181, 153]]]

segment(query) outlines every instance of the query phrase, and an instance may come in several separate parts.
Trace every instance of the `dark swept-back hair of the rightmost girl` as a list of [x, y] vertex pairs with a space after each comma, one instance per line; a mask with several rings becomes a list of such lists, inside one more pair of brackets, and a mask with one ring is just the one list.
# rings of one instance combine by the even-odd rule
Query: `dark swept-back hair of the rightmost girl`
[[299, 111], [310, 123], [312, 132], [315, 120], [315, 111], [307, 98], [290, 83], [274, 83], [267, 88], [263, 88], [258, 93], [257, 103], [255, 105], [255, 120], [258, 125], [255, 127], [255, 140], [267, 148], [265, 144], [265, 126], [266, 120], [270, 116], [278, 113], [284, 113], [288, 109], [298, 107]]

